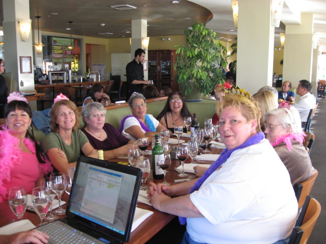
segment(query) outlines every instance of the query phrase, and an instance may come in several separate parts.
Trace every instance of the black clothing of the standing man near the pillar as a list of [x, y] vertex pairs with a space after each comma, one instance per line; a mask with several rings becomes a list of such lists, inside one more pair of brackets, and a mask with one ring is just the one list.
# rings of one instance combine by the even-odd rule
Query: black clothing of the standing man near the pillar
[[144, 80], [144, 67], [142, 63], [137, 63], [135, 59], [133, 59], [126, 66], [126, 75], [127, 75], [127, 88], [129, 89], [129, 97], [132, 93], [143, 93], [144, 92], [144, 84], [131, 84], [134, 80]]

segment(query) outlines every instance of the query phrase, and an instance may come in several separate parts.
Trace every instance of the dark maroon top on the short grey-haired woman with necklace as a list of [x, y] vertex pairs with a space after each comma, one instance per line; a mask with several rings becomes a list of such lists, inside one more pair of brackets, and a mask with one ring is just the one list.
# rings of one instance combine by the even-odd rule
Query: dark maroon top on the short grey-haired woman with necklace
[[87, 138], [89, 139], [91, 145], [95, 149], [113, 150], [120, 146], [126, 145], [130, 140], [124, 137], [116, 128], [112, 125], [105, 123], [103, 130], [105, 131], [107, 138], [104, 141], [98, 140], [96, 137], [92, 136], [85, 130], [85, 127], [82, 131], [85, 133]]

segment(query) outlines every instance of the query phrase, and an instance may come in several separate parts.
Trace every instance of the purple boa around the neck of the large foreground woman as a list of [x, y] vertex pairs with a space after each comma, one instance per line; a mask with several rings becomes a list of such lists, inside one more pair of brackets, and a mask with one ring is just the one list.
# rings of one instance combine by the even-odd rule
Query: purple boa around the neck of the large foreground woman
[[[190, 190], [189, 194], [197, 191], [201, 185], [204, 183], [204, 181], [208, 178], [208, 176], [210, 176], [216, 169], [218, 169], [223, 163], [225, 163], [231, 156], [231, 154], [233, 153], [233, 151], [244, 148], [244, 147], [248, 147], [254, 144], [259, 143], [262, 139], [265, 138], [265, 135], [263, 132], [259, 132], [251, 137], [248, 138], [247, 141], [245, 141], [243, 144], [228, 150], [228, 149], [224, 149], [220, 155], [220, 157], [215, 161], [215, 163], [213, 163], [203, 174], [203, 176], [201, 176], [197, 182], [195, 183], [195, 185], [193, 186], [193, 188]], [[179, 217], [179, 222], [181, 225], [185, 225], [187, 222], [187, 219], [184, 217]]]

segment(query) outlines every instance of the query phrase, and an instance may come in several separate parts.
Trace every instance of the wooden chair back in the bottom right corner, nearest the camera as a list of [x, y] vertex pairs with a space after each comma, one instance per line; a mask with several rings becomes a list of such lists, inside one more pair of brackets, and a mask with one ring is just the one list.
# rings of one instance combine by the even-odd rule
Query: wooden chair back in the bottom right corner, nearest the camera
[[306, 244], [320, 214], [320, 203], [307, 196], [305, 204], [297, 218], [288, 244]]

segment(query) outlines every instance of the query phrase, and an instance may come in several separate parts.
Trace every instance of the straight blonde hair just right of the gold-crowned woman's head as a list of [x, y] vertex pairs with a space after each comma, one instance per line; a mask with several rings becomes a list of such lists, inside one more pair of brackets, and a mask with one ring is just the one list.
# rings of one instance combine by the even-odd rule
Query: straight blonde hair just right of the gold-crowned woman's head
[[253, 95], [253, 99], [258, 102], [258, 106], [261, 110], [261, 119], [260, 119], [260, 126], [265, 123], [264, 115], [273, 109], [276, 109], [277, 106], [275, 104], [275, 97], [270, 90], [261, 90], [260, 92]]

